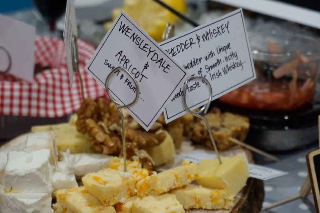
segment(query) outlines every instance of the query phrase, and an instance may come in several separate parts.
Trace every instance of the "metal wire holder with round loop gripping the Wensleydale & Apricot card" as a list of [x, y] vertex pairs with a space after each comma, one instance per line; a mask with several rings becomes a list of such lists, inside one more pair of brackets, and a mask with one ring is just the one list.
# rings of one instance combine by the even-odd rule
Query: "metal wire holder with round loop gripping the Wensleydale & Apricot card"
[[[136, 87], [136, 97], [135, 99], [129, 103], [129, 104], [124, 104], [124, 105], [121, 105], [121, 103], [117, 102], [117, 100], [111, 95], [110, 93], [110, 89], [109, 89], [109, 80], [111, 78], [111, 76], [113, 74], [116, 73], [116, 71], [118, 70], [123, 70], [124, 72], [126, 72], [130, 78], [133, 80], [134, 84], [135, 84], [135, 87]], [[126, 108], [126, 107], [130, 107], [132, 106], [133, 104], [135, 104], [137, 101], [138, 101], [138, 96], [139, 96], [139, 87], [138, 87], [138, 83], [137, 81], [135, 80], [135, 78], [132, 76], [132, 74], [126, 70], [125, 68], [123, 68], [122, 66], [118, 66], [116, 67], [114, 70], [112, 70], [112, 72], [110, 72], [110, 74], [108, 74], [107, 78], [106, 78], [106, 82], [105, 82], [105, 87], [106, 87], [106, 92], [109, 96], [109, 98], [115, 103], [119, 113], [120, 113], [120, 116], [121, 116], [121, 124], [122, 124], [122, 149], [123, 149], [123, 160], [124, 160], [124, 171], [126, 172], [127, 171], [127, 155], [126, 155], [126, 145], [125, 145], [125, 129], [124, 129], [124, 117], [123, 117], [123, 113], [121, 111], [122, 108]]]

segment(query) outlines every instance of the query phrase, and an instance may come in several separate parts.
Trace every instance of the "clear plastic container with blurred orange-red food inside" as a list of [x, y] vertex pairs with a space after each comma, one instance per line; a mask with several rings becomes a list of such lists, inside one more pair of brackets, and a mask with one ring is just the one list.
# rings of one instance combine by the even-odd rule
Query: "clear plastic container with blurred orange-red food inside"
[[312, 102], [320, 42], [291, 34], [250, 38], [257, 79], [219, 98], [255, 110], [294, 110]]

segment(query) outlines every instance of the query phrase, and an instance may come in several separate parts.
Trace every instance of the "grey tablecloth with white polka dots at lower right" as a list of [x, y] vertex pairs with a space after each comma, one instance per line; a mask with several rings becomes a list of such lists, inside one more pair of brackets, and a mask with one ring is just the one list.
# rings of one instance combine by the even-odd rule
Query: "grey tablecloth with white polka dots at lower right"
[[[263, 206], [268, 206], [274, 202], [299, 194], [300, 186], [308, 174], [306, 154], [309, 151], [319, 148], [318, 146], [319, 145], [315, 143], [290, 152], [273, 153], [280, 159], [279, 162], [272, 162], [262, 156], [254, 154], [256, 164], [289, 172], [287, 175], [266, 180], [264, 182], [265, 199]], [[286, 212], [316, 213], [312, 194], [310, 194], [306, 199], [298, 199], [273, 209], [261, 211], [261, 213]]]

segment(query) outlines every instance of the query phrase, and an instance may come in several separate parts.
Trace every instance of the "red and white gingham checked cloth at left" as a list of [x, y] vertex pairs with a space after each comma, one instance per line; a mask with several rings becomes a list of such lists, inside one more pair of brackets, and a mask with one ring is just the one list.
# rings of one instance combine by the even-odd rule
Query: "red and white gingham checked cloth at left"
[[[78, 49], [85, 97], [96, 99], [105, 95], [105, 89], [84, 71], [95, 48], [78, 39]], [[49, 66], [50, 69], [38, 73], [33, 83], [8, 74], [0, 76], [0, 115], [61, 117], [76, 111], [82, 103], [80, 82], [75, 74], [70, 90], [63, 41], [59, 38], [37, 37], [35, 63]]]

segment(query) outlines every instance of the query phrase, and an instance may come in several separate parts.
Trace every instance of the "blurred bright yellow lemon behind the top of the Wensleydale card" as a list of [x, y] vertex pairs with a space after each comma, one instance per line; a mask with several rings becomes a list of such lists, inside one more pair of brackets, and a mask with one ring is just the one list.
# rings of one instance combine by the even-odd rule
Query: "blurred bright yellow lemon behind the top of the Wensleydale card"
[[[185, 13], [185, 0], [163, 0], [180, 13]], [[122, 8], [112, 11], [112, 21], [104, 24], [108, 30], [120, 11], [123, 10], [132, 20], [134, 20], [144, 31], [146, 31], [156, 42], [161, 41], [165, 24], [173, 24], [179, 18], [169, 10], [152, 0], [124, 0]]]

